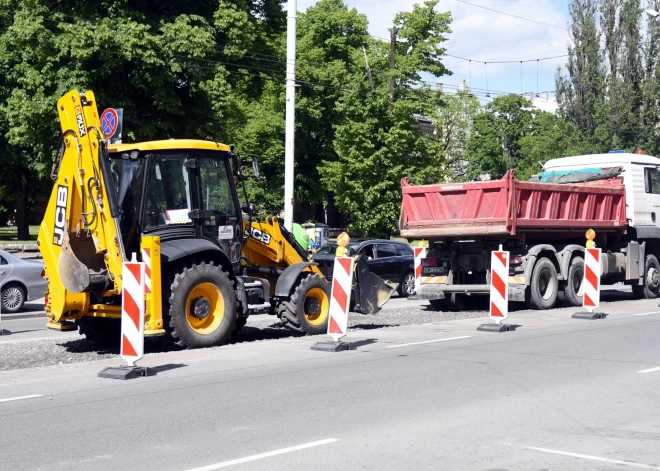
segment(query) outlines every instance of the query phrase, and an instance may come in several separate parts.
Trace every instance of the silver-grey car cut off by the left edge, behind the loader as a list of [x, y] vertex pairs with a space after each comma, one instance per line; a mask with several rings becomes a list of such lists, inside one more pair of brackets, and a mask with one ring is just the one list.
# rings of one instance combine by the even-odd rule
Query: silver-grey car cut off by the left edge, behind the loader
[[41, 260], [24, 260], [0, 250], [0, 309], [3, 313], [20, 311], [26, 301], [44, 296], [47, 290]]

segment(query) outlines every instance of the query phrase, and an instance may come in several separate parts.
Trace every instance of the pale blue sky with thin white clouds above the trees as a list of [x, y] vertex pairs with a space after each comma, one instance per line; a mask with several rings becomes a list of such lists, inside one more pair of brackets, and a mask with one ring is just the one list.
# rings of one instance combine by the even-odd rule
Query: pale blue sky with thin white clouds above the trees
[[[369, 19], [369, 32], [373, 36], [389, 37], [394, 16], [400, 11], [411, 10], [414, 3], [423, 0], [344, 0], [357, 8]], [[499, 10], [541, 23], [525, 21], [495, 13], [473, 5]], [[566, 63], [566, 57], [537, 61], [567, 54], [569, 41], [567, 0], [440, 0], [438, 11], [449, 11], [452, 16], [452, 32], [445, 42], [447, 54], [472, 59], [472, 62], [445, 57], [445, 66], [451, 76], [434, 78], [429, 82], [441, 82], [447, 91], [455, 90], [461, 79], [472, 84], [471, 89], [482, 103], [488, 101], [486, 89], [500, 92], [550, 92], [554, 93], [554, 77], [557, 67]], [[305, 10], [315, 0], [298, 0], [298, 10]], [[521, 60], [531, 60], [522, 64]], [[492, 61], [516, 61], [509, 64], [487, 64]], [[487, 75], [487, 80], [486, 80]], [[538, 79], [538, 85], [537, 85]], [[491, 97], [496, 94], [492, 93]]]

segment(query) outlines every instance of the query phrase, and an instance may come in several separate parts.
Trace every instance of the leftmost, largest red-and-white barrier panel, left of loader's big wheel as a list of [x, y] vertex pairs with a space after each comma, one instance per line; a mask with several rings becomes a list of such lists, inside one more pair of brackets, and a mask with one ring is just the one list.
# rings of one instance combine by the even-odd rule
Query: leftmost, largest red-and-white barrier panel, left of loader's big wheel
[[133, 254], [133, 261], [124, 262], [122, 270], [121, 357], [128, 366], [144, 356], [145, 266]]

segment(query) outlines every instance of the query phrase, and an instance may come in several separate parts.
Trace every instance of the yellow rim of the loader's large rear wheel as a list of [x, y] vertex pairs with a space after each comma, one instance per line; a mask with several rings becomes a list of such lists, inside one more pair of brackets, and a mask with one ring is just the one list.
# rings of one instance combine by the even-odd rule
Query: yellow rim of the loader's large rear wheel
[[195, 286], [186, 300], [186, 320], [195, 332], [210, 334], [220, 326], [225, 317], [225, 300], [212, 283]]

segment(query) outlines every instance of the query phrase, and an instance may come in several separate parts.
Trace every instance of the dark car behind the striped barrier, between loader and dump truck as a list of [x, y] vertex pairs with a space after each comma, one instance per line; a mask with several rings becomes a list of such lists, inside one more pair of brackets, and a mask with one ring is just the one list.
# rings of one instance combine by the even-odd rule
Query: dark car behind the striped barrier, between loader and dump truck
[[[384, 280], [398, 283], [401, 296], [407, 297], [415, 293], [414, 254], [408, 244], [370, 239], [351, 242], [348, 247], [350, 255], [362, 254], [367, 257], [372, 273]], [[326, 244], [312, 255], [326, 278], [332, 277], [336, 249], [337, 244]]]

